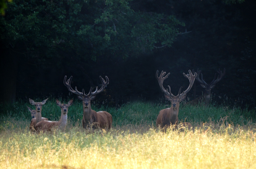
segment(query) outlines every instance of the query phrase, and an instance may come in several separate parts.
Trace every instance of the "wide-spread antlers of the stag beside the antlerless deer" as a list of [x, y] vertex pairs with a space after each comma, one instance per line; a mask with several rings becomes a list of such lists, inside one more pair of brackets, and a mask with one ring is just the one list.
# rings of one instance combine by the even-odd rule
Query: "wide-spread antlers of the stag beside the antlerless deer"
[[[92, 92], [92, 87], [90, 88], [90, 91], [87, 95], [89, 96], [93, 96], [93, 95], [96, 95], [100, 92], [102, 92], [104, 90], [104, 88], [109, 84], [109, 78], [107, 76], [106, 77], [106, 81], [100, 76], [100, 79], [101, 79], [101, 82], [102, 82], [102, 86], [100, 88], [100, 90], [98, 90], [98, 86], [96, 87], [96, 90], [94, 92]], [[75, 87], [75, 90], [71, 88], [71, 80], [72, 80], [72, 76], [70, 76], [70, 78], [66, 81], [67, 79], [67, 76], [64, 77], [64, 85], [68, 88], [68, 90], [71, 92], [71, 93], [74, 93], [74, 94], [77, 94], [79, 96], [84, 96], [86, 95], [84, 93], [84, 89], [82, 89], [82, 92], [79, 92], [77, 90], [77, 87]]]

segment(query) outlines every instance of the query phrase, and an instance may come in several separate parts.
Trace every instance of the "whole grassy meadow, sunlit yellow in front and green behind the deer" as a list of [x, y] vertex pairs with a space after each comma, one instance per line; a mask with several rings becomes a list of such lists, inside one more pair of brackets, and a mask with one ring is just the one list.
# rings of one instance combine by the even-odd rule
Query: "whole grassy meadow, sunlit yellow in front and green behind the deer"
[[[35, 99], [35, 101], [42, 101]], [[68, 100], [60, 99], [67, 103]], [[180, 105], [179, 121], [193, 130], [161, 132], [159, 110], [170, 103], [131, 102], [118, 107], [92, 103], [113, 117], [110, 131], [82, 128], [82, 103], [68, 110], [65, 132], [31, 134], [29, 102], [0, 104], [1, 168], [256, 168], [256, 112], [227, 105]], [[42, 116], [59, 120], [54, 99]]]

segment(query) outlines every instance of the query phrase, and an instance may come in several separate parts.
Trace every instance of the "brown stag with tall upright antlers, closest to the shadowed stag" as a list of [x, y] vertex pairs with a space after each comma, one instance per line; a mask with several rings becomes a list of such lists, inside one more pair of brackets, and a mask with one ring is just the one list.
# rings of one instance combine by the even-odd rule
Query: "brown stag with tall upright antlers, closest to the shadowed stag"
[[[158, 70], [156, 71], [156, 79], [158, 80], [159, 86], [160, 86], [162, 92], [164, 93], [164, 96], [165, 96], [166, 100], [169, 100], [171, 102], [171, 107], [170, 108], [166, 108], [166, 109], [163, 109], [163, 110], [159, 111], [159, 114], [158, 114], [157, 119], [156, 119], [156, 126], [157, 127], [169, 128], [171, 125], [174, 125], [175, 128], [177, 128], [179, 103], [182, 102], [183, 100], [185, 100], [186, 94], [192, 88], [192, 86], [194, 84], [194, 81], [195, 81], [195, 78], [197, 76], [197, 73], [195, 73], [193, 75], [190, 70], [188, 72], [189, 72], [189, 74], [187, 74], [187, 75], [185, 73], [183, 73], [183, 75], [186, 78], [189, 79], [188, 88], [181, 93], [182, 87], [180, 87], [178, 95], [174, 96], [171, 92], [171, 88], [170, 88], [169, 85], [168, 85], [169, 91], [168, 91], [167, 88], [165, 89], [163, 87], [163, 82], [164, 82], [165, 79], [168, 78], [170, 73], [168, 73], [166, 76], [164, 76], [166, 74], [166, 72], [162, 71], [160, 76], [158, 77]], [[192, 125], [188, 122], [181, 123], [180, 125], [187, 126], [187, 127], [190, 127], [190, 126], [192, 127]]]

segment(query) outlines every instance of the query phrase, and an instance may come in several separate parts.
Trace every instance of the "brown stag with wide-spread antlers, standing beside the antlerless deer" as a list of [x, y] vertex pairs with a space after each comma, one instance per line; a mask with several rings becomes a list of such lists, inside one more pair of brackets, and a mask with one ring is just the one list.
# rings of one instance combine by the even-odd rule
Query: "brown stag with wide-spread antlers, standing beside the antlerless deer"
[[96, 87], [96, 90], [92, 92], [92, 87], [90, 88], [90, 91], [88, 94], [84, 93], [84, 89], [82, 89], [82, 92], [79, 92], [77, 90], [77, 87], [75, 87], [75, 90], [71, 88], [71, 80], [72, 76], [66, 81], [67, 76], [64, 77], [64, 85], [68, 88], [68, 90], [71, 93], [74, 93], [78, 95], [78, 98], [83, 101], [83, 119], [82, 119], [82, 125], [84, 129], [92, 129], [93, 131], [95, 129], [107, 129], [109, 130], [112, 126], [112, 116], [110, 113], [106, 111], [98, 111], [91, 109], [91, 100], [95, 98], [96, 94], [99, 94], [104, 90], [104, 88], [109, 84], [109, 78], [107, 76], [106, 81], [100, 76], [102, 86], [98, 90], [98, 86]]

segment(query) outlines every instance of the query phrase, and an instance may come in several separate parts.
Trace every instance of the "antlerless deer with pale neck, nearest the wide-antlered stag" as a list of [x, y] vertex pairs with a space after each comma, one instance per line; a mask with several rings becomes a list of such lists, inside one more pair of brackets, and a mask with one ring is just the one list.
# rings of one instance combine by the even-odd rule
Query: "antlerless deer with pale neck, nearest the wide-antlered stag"
[[40, 131], [52, 131], [53, 129], [60, 129], [62, 131], [65, 131], [66, 124], [67, 124], [67, 118], [68, 118], [68, 108], [73, 104], [73, 99], [71, 99], [68, 104], [61, 104], [58, 99], [56, 99], [56, 104], [61, 109], [61, 116], [59, 121], [40, 121], [36, 123], [35, 130], [37, 133], [40, 133]]

